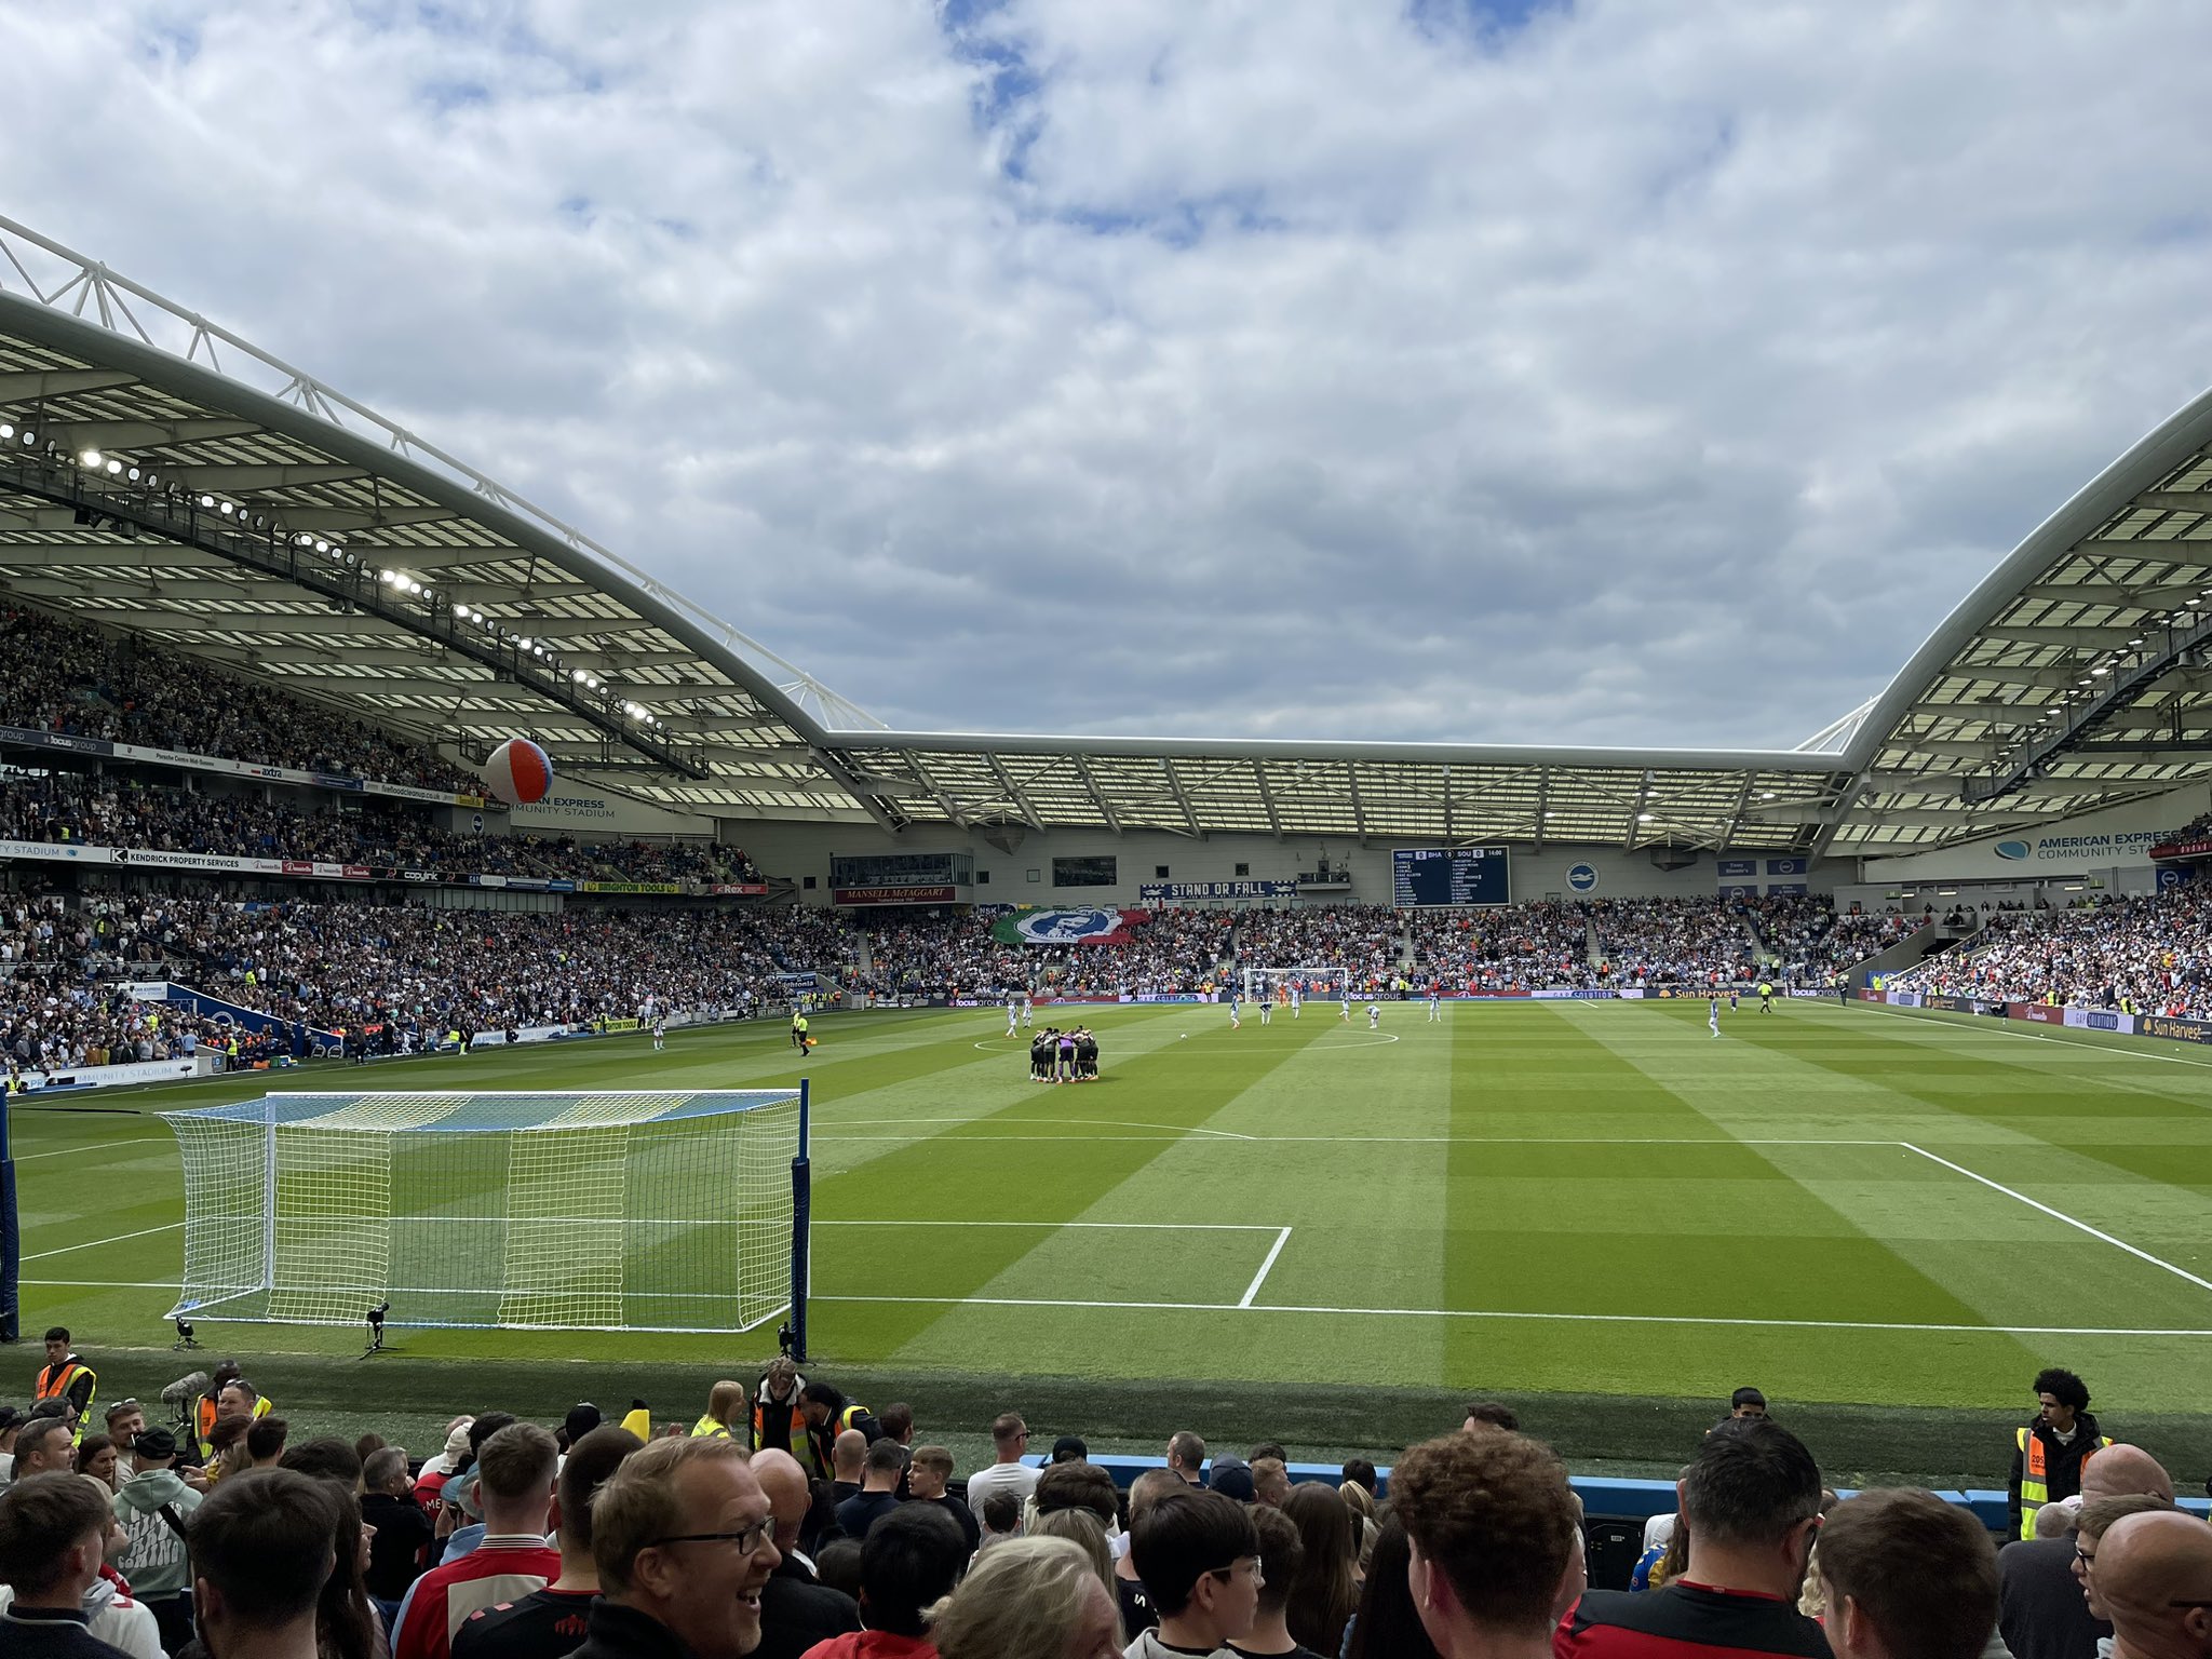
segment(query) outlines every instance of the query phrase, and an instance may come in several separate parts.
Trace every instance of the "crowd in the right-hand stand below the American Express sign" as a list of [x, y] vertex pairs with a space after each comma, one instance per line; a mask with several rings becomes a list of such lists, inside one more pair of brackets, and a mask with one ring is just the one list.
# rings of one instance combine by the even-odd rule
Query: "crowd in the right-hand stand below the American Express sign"
[[2006, 909], [1958, 951], [1893, 980], [1989, 1002], [2212, 1015], [2212, 891], [2174, 887], [2073, 909]]

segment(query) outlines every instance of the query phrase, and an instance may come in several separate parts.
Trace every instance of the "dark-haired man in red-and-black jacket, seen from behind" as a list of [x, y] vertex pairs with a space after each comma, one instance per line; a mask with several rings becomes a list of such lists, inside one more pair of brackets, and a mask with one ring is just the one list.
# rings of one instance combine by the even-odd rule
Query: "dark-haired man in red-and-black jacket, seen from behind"
[[1553, 1635], [1553, 1659], [1829, 1659], [1796, 1610], [1820, 1535], [1820, 1469], [1770, 1418], [1723, 1422], [1677, 1484], [1690, 1566], [1663, 1590], [1588, 1590]]

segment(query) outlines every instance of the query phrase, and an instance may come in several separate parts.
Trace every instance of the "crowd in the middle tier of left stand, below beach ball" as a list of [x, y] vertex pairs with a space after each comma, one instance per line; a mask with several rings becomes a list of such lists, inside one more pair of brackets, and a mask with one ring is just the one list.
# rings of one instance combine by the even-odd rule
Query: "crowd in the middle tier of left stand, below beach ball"
[[453, 834], [420, 810], [376, 799], [301, 807], [252, 790], [217, 794], [82, 772], [0, 772], [0, 838], [489, 876], [759, 880], [743, 852], [701, 841]]

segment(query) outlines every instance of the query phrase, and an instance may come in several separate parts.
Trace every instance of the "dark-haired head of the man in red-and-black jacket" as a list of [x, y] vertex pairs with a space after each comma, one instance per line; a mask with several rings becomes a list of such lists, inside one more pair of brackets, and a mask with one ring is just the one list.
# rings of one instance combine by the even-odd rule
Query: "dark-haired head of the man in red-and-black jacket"
[[[1732, 1418], [1699, 1442], [1679, 1493], [1692, 1577], [1717, 1588], [1796, 1595], [1820, 1517], [1820, 1469], [1805, 1442], [1772, 1418]], [[1699, 1562], [1719, 1562], [1723, 1553], [1736, 1562], [1708, 1564], [1723, 1573], [1708, 1577]], [[1734, 1584], [1730, 1573], [1759, 1582]]]

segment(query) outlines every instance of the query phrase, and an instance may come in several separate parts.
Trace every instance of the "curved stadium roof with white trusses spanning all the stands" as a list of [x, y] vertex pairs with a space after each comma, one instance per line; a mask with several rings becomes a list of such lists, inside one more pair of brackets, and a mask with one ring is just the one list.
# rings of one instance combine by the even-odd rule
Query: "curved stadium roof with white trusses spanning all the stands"
[[526, 732], [562, 774], [708, 814], [1882, 854], [2212, 774], [2212, 394], [2028, 535], [1880, 697], [1774, 752], [891, 732], [9, 219], [0, 425], [0, 593], [467, 759]]

